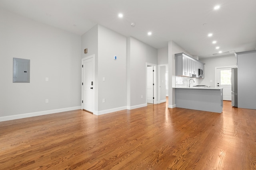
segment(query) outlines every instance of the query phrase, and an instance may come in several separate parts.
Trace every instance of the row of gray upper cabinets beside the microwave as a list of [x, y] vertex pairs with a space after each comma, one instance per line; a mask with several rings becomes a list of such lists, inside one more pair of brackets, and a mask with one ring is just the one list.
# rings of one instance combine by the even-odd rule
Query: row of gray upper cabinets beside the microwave
[[176, 76], [204, 78], [198, 75], [198, 69], [204, 70], [204, 63], [187, 55], [186, 53], [175, 54]]

